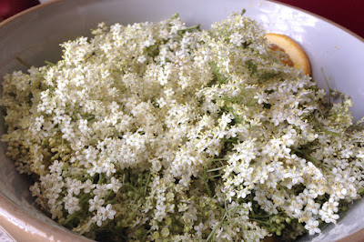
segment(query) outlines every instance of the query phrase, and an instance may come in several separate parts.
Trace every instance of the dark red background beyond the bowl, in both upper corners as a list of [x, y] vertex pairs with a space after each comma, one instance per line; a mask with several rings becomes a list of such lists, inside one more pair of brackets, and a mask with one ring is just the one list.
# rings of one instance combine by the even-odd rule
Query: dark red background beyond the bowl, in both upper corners
[[[50, 1], [0, 0], [0, 21], [26, 8]], [[321, 15], [364, 37], [364, 17], [362, 16], [364, 0], [276, 0], [276, 2], [297, 6], [316, 15]]]

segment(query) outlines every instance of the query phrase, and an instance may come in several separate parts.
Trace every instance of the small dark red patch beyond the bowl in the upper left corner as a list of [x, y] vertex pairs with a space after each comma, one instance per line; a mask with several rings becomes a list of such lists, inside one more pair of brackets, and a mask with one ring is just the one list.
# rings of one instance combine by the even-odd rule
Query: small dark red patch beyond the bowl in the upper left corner
[[26, 8], [39, 4], [38, 0], [0, 0], [0, 18], [4, 20]]

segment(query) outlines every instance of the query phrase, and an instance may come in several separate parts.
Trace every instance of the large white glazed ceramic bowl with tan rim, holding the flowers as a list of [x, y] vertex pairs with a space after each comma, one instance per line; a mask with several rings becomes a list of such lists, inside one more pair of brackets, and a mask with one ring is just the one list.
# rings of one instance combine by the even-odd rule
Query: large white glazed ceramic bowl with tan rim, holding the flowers
[[[60, 58], [59, 43], [78, 35], [88, 35], [100, 22], [132, 24], [160, 21], [178, 13], [187, 25], [208, 28], [231, 12], [247, 10], [268, 32], [289, 35], [303, 45], [312, 65], [313, 78], [319, 87], [327, 87], [321, 72], [325, 71], [331, 88], [352, 97], [353, 116], [364, 116], [364, 40], [349, 30], [317, 15], [297, 8], [262, 0], [63, 0], [38, 5], [0, 24], [0, 76], [14, 70], [25, 70], [15, 61], [19, 56], [34, 66]], [[3, 121], [2, 121], [3, 122]], [[4, 133], [4, 122], [0, 134]], [[25, 176], [16, 173], [0, 146], [0, 226], [18, 240], [82, 240], [32, 205]], [[364, 200], [349, 209], [339, 223], [324, 229], [318, 237], [303, 241], [345, 241], [364, 239]], [[1, 227], [0, 227], [1, 228]], [[1, 231], [0, 231], [1, 232]], [[1, 233], [0, 233], [1, 234]]]

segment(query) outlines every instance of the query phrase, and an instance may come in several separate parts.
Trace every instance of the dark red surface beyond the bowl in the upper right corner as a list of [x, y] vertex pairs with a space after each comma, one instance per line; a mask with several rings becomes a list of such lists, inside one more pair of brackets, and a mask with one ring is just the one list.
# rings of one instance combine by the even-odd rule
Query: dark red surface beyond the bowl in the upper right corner
[[276, 0], [321, 15], [364, 37], [364, 0]]

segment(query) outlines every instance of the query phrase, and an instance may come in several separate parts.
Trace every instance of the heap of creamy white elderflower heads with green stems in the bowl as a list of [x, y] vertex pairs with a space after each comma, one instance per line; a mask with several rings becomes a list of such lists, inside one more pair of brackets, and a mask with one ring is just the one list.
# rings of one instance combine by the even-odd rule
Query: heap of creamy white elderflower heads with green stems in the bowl
[[97, 240], [294, 239], [363, 193], [349, 97], [329, 89], [331, 103], [283, 66], [255, 21], [92, 34], [3, 85], [6, 155], [61, 225]]

